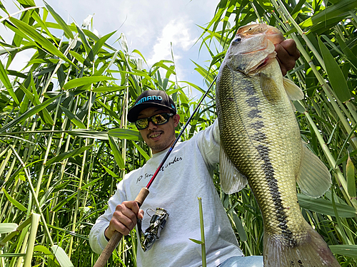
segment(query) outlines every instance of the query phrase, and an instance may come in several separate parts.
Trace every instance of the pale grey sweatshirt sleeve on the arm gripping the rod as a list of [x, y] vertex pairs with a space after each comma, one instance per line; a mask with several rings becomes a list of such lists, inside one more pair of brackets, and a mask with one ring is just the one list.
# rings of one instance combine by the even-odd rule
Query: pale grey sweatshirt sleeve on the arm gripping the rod
[[106, 231], [106, 228], [109, 226], [109, 222], [113, 217], [116, 206], [123, 201], [126, 201], [126, 194], [123, 189], [122, 180], [119, 182], [115, 194], [108, 201], [108, 209], [106, 209], [103, 215], [96, 219], [96, 224], [94, 224], [89, 233], [89, 244], [95, 253], [100, 254], [106, 247], [106, 244], [108, 244], [104, 231]]

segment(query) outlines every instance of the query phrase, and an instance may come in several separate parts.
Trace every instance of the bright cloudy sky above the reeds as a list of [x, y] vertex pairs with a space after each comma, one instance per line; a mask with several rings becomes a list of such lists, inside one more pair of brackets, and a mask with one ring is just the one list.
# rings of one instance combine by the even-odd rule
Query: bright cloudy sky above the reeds
[[[43, 1], [34, 1], [44, 6]], [[10, 14], [18, 10], [11, 0], [1, 2]], [[211, 56], [204, 48], [199, 52], [201, 42], [196, 43], [202, 33], [198, 25], [205, 26], [211, 21], [218, 0], [47, 0], [47, 3], [68, 23], [76, 21], [81, 25], [87, 16], [94, 15], [93, 26], [100, 36], [117, 31], [107, 41], [115, 48], [120, 48], [115, 42], [124, 33], [129, 52], [139, 50], [149, 65], [162, 59], [171, 60], [172, 43], [178, 80], [206, 89], [191, 61], [201, 66], [209, 64]], [[11, 42], [12, 32], [2, 25], [0, 35]], [[11, 68], [19, 69], [32, 53], [16, 58]]]

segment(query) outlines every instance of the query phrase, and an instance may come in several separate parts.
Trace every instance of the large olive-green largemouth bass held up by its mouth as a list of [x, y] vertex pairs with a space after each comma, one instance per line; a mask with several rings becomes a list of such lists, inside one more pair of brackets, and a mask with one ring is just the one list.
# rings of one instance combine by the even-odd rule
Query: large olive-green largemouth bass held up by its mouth
[[303, 92], [281, 74], [274, 51], [281, 41], [266, 24], [241, 27], [221, 65], [221, 187], [227, 194], [247, 182], [251, 187], [263, 216], [264, 266], [340, 266], [298, 205], [296, 182], [303, 193], [320, 197], [331, 175], [301, 140], [291, 100]]

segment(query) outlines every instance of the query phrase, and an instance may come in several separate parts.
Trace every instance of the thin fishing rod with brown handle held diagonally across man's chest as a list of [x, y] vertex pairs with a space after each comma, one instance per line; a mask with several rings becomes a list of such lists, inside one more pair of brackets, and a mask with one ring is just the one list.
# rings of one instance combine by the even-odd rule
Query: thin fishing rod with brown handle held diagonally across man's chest
[[[162, 159], [161, 163], [159, 164], [159, 167], [156, 169], [156, 172], [154, 173], [153, 177], [151, 177], [149, 183], [146, 185], [146, 187], [141, 188], [138, 196], [135, 199], [135, 201], [139, 205], [139, 207], [141, 207], [141, 205], [144, 203], [144, 200], [146, 199], [146, 197], [149, 194], [149, 187], [151, 187], [151, 184], [154, 182], [154, 179], [156, 178], [157, 174], [159, 173], [161, 167], [165, 164], [166, 159], [169, 157], [169, 155], [171, 154], [172, 150], [174, 150], [174, 147], [175, 147], [176, 143], [178, 142], [178, 140], [180, 139], [181, 135], [183, 134], [183, 131], [186, 130], [186, 127], [191, 122], [191, 120], [193, 118], [193, 115], [196, 114], [199, 106], [203, 102], [203, 99], [206, 98], [209, 90], [211, 90], [211, 87], [216, 82], [216, 79], [217, 79], [217, 76], [216, 76], [216, 78], [214, 78], [213, 82], [211, 83], [211, 85], [209, 85], [208, 89], [206, 90], [206, 93], [203, 95], [201, 100], [198, 102], [198, 105], [196, 106], [195, 110], [193, 110], [191, 116], [188, 118], [186, 124], [183, 126], [183, 129], [181, 130], [181, 132], [176, 137], [176, 140], [171, 145], [169, 151], [166, 152], [166, 155], [165, 155], [164, 159]], [[104, 251], [101, 252], [101, 255], [99, 256], [98, 260], [96, 261], [96, 263], [94, 264], [93, 267], [104, 267], [104, 265], [106, 264], [106, 261], [109, 260], [111, 254], [113, 253], [113, 251], [116, 248], [116, 246], [118, 246], [118, 244], [121, 241], [122, 237], [123, 237], [123, 235], [121, 233], [119, 233], [119, 231], [116, 231], [114, 233], [114, 235], [111, 236], [111, 239], [109, 240], [108, 244], [106, 244], [106, 247], [104, 248]]]

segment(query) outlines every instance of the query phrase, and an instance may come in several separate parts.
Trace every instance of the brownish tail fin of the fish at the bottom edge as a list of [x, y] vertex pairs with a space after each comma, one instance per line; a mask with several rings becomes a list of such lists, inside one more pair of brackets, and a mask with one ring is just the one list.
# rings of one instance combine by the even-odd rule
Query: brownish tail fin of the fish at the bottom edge
[[265, 234], [264, 267], [341, 267], [326, 242], [311, 226], [293, 243], [289, 244], [282, 235]]

